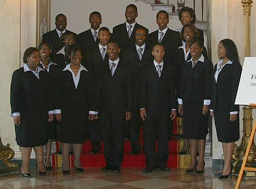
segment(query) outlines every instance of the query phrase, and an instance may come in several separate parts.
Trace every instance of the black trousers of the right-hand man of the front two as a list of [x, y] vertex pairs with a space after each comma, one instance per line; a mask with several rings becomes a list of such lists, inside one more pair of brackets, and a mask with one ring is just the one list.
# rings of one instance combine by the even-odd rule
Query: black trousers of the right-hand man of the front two
[[[169, 156], [168, 116], [147, 116], [143, 123], [144, 153], [146, 154], [146, 166], [151, 169], [154, 166], [165, 166]], [[158, 154], [156, 154], [156, 140], [158, 140]]]

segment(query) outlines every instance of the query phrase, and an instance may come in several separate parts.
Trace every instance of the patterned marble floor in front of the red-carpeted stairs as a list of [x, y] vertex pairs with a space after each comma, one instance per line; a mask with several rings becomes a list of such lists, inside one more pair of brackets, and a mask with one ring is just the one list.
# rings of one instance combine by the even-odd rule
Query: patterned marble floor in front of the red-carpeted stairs
[[[31, 169], [32, 178], [23, 178], [20, 173], [2, 175], [0, 188], [38, 188], [38, 189], [70, 189], [70, 188], [234, 188], [237, 177], [219, 180], [214, 173], [219, 170], [205, 169], [205, 173], [186, 174], [185, 169], [171, 169], [170, 172], [154, 170], [143, 174], [142, 169], [122, 169], [115, 174], [99, 169], [85, 169], [84, 173], [71, 171], [71, 175], [64, 175], [61, 169], [47, 172], [46, 177]], [[256, 188], [255, 178], [243, 179], [240, 188]]]

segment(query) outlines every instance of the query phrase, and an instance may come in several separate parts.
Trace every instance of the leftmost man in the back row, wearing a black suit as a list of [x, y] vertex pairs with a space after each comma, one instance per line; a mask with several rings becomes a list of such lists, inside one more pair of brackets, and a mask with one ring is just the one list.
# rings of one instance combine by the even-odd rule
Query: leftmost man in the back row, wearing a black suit
[[51, 43], [52, 45], [52, 54], [58, 52], [61, 48], [63, 48], [64, 43], [60, 40], [60, 36], [65, 32], [73, 33], [77, 38], [77, 34], [66, 29], [67, 27], [67, 17], [64, 14], [58, 14], [55, 17], [55, 30], [44, 33], [43, 42]]

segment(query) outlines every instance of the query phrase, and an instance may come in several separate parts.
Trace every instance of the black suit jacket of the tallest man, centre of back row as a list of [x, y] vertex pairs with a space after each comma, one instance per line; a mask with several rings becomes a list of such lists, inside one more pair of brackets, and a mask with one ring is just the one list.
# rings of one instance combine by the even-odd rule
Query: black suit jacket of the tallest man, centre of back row
[[119, 24], [113, 28], [114, 40], [117, 41], [117, 43], [121, 47], [122, 52], [125, 51], [125, 49], [132, 47], [132, 45], [135, 43], [135, 31], [137, 30], [137, 28], [144, 28], [146, 30], [146, 33], [148, 34], [148, 29], [138, 23], [135, 24], [130, 38], [128, 36], [125, 23]]

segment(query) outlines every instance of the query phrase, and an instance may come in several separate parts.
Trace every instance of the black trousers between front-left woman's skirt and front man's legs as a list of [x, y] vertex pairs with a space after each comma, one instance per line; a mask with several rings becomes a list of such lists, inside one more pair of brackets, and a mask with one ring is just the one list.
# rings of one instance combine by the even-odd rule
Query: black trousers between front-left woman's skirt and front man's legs
[[89, 133], [90, 133], [90, 143], [92, 144], [92, 149], [96, 151], [101, 150], [101, 123], [100, 120], [89, 121]]

